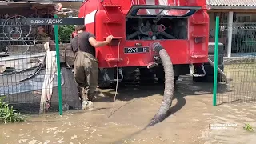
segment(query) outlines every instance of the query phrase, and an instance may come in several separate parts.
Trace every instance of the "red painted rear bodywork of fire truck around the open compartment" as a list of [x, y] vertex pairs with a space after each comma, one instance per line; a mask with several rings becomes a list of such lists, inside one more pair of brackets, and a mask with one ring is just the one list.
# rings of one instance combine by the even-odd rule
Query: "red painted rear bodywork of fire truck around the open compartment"
[[[155, 4], [169, 6], [202, 6], [188, 18], [187, 40], [158, 40], [166, 48], [174, 64], [204, 63], [208, 58], [209, 17], [205, 9], [205, 0], [134, 0], [134, 1], [96, 1], [87, 0], [80, 9], [79, 17], [85, 18], [86, 30], [95, 34], [97, 40], [104, 40], [108, 35], [114, 36], [114, 41], [120, 45], [102, 46], [96, 49], [99, 67], [147, 66], [152, 62], [154, 51], [142, 54], [124, 54], [124, 47], [134, 47], [135, 43], [150, 46], [153, 40], [126, 40], [126, 14], [133, 4]], [[166, 4], [166, 3], [167, 4]], [[83, 16], [82, 16], [83, 15]], [[195, 38], [204, 38], [204, 42], [195, 43]]]

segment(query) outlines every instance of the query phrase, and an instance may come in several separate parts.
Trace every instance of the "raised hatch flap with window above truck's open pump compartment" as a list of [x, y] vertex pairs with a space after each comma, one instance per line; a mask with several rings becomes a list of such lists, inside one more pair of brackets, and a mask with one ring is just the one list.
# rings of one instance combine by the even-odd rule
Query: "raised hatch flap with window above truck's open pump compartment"
[[202, 6], [133, 5], [127, 18], [173, 17], [186, 18], [201, 10]]

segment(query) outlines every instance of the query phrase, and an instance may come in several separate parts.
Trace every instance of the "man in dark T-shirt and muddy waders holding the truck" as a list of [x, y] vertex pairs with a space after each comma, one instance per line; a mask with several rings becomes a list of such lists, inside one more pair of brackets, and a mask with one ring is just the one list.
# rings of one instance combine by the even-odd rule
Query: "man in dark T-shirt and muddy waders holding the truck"
[[[95, 58], [95, 48], [109, 44], [113, 36], [106, 41], [96, 41], [94, 34], [86, 32], [86, 26], [75, 26], [77, 35], [71, 40], [74, 52], [74, 78], [82, 90], [82, 109], [92, 103], [95, 90], [98, 86], [98, 60]], [[89, 102], [88, 102], [89, 101]]]

